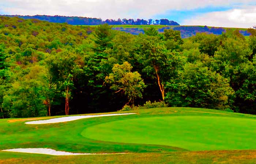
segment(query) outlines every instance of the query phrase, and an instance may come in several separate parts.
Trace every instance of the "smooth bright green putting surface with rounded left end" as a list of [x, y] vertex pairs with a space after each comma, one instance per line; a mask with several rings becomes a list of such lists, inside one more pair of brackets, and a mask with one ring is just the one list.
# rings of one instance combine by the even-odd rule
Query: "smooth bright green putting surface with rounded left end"
[[256, 120], [215, 116], [146, 117], [94, 125], [84, 129], [82, 135], [101, 141], [200, 151], [256, 149]]

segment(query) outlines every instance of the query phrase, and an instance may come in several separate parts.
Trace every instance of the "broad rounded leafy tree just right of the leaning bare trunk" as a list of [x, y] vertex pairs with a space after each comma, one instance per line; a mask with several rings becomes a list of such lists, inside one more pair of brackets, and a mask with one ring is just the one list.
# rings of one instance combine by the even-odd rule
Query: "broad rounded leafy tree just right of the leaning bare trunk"
[[231, 107], [234, 94], [229, 80], [208, 70], [203, 63], [186, 64], [178, 78], [166, 87], [166, 102], [172, 106], [224, 110]]

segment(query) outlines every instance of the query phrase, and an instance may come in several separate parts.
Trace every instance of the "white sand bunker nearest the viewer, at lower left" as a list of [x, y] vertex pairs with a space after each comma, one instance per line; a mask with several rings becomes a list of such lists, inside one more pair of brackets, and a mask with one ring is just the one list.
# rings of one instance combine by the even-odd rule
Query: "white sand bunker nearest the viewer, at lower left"
[[48, 149], [48, 148], [19, 148], [19, 149], [7, 149], [7, 150], [2, 150], [2, 151], [45, 154], [45, 155], [53, 155], [53, 156], [127, 154], [127, 153], [71, 153], [71, 152], [64, 152], [64, 151], [56, 151], [56, 150]]

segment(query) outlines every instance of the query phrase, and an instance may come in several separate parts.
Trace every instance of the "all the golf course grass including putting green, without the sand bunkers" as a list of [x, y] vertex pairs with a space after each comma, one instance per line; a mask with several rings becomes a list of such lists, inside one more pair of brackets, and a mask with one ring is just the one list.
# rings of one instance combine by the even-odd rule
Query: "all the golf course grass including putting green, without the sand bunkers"
[[[189, 163], [234, 163], [242, 159], [246, 159], [246, 163], [256, 161], [256, 151], [246, 151], [256, 149], [256, 117], [253, 115], [197, 108], [155, 108], [110, 114], [115, 113], [137, 114], [42, 125], [27, 125], [27, 119], [1, 119], [0, 150], [49, 148], [72, 153], [132, 154], [81, 155], [74, 158], [0, 152], [0, 163], [188, 163], [188, 160]], [[60, 116], [50, 118], [58, 117]], [[46, 119], [48, 117], [41, 118]], [[237, 151], [233, 151], [235, 149]], [[34, 161], [31, 162], [32, 160]]]

